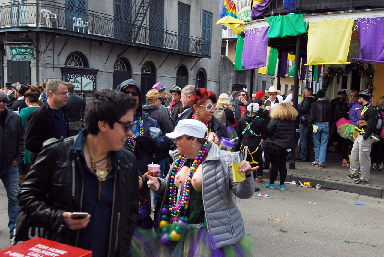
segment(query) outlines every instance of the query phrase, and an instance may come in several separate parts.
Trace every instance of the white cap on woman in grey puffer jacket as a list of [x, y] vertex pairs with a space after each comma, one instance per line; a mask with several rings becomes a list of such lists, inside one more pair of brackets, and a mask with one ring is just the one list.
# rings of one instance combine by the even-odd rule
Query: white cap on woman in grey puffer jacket
[[207, 126], [199, 120], [184, 119], [177, 123], [173, 132], [166, 133], [166, 136], [176, 138], [188, 135], [190, 137], [204, 138], [207, 130]]

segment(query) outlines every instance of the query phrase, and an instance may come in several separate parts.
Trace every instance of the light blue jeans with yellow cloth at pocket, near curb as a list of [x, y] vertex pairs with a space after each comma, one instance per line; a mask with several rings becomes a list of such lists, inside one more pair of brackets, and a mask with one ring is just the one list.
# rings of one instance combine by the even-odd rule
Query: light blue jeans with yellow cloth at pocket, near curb
[[314, 141], [314, 157], [318, 163], [325, 164], [329, 139], [329, 123], [314, 123], [313, 125], [318, 126], [317, 132], [312, 132]]

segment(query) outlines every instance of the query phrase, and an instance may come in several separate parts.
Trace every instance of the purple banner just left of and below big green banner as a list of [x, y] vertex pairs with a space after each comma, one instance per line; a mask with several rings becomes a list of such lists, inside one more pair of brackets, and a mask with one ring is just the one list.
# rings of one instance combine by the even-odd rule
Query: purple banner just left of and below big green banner
[[257, 69], [266, 66], [269, 26], [245, 31], [242, 68]]

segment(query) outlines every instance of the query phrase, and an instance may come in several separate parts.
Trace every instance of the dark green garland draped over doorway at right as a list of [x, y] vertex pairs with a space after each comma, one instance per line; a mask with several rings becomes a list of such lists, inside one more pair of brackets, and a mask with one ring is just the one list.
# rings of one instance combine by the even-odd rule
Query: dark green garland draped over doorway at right
[[346, 64], [344, 67], [329, 67], [326, 69], [326, 74], [323, 77], [323, 87], [321, 89], [326, 92], [329, 84], [332, 82], [334, 76], [340, 76], [348, 74], [352, 70], [358, 70], [359, 75], [364, 79], [366, 89], [373, 88], [373, 75], [375, 70], [370, 63], [361, 63], [360, 61], [354, 61], [353, 63]]

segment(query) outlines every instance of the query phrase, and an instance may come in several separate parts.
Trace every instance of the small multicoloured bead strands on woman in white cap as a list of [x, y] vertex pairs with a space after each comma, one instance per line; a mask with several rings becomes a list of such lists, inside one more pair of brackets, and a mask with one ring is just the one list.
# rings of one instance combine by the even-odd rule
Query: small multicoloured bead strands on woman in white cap
[[183, 209], [185, 209], [188, 205], [192, 176], [194, 175], [197, 167], [199, 167], [205, 155], [205, 152], [207, 151], [207, 147], [208, 147], [208, 141], [206, 141], [203, 144], [192, 166], [190, 166], [189, 173], [184, 182], [184, 186], [180, 187], [179, 189], [181, 190], [179, 199], [177, 199], [177, 189], [176, 189], [177, 187], [175, 185], [174, 179], [188, 158], [185, 157], [184, 155], [180, 155], [179, 159], [175, 162], [175, 166], [174, 166], [174, 169], [172, 170], [172, 176], [169, 183], [169, 211], [171, 213], [172, 220], [174, 222], [177, 222], [179, 220], [180, 212]]

